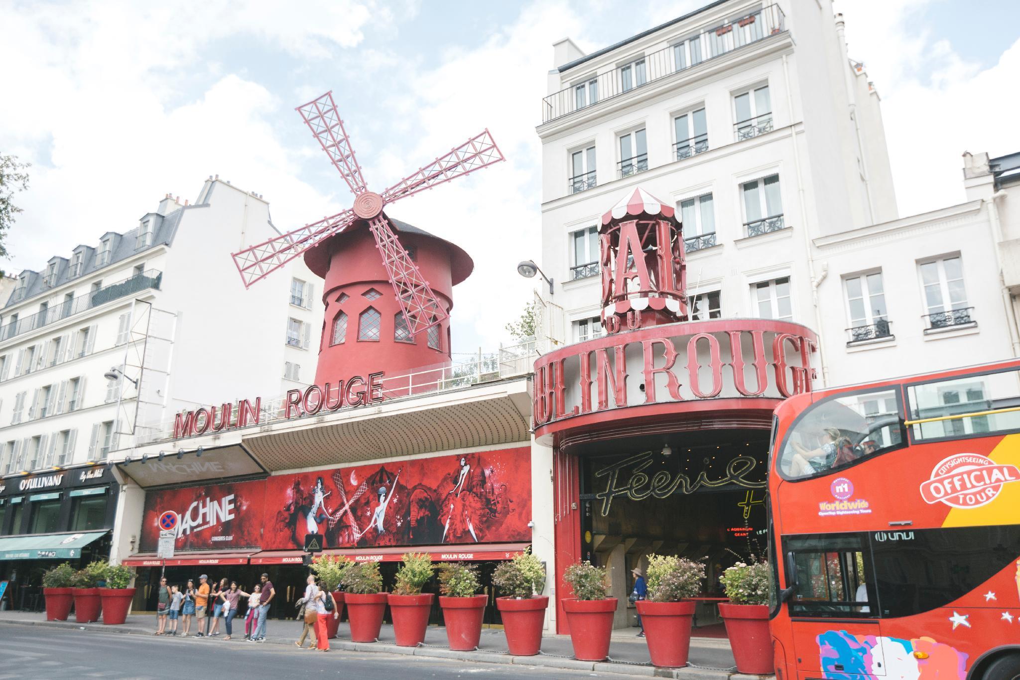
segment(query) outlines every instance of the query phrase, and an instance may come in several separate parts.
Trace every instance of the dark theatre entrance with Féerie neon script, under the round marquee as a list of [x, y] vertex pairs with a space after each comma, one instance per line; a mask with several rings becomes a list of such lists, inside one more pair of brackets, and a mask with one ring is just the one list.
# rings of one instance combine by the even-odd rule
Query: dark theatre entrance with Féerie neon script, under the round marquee
[[[710, 429], [579, 444], [580, 555], [606, 567], [614, 627], [638, 625], [632, 570], [650, 554], [704, 560], [695, 634], [725, 635], [719, 575], [763, 556], [768, 432]], [[636, 632], [636, 631], [635, 631]]]

